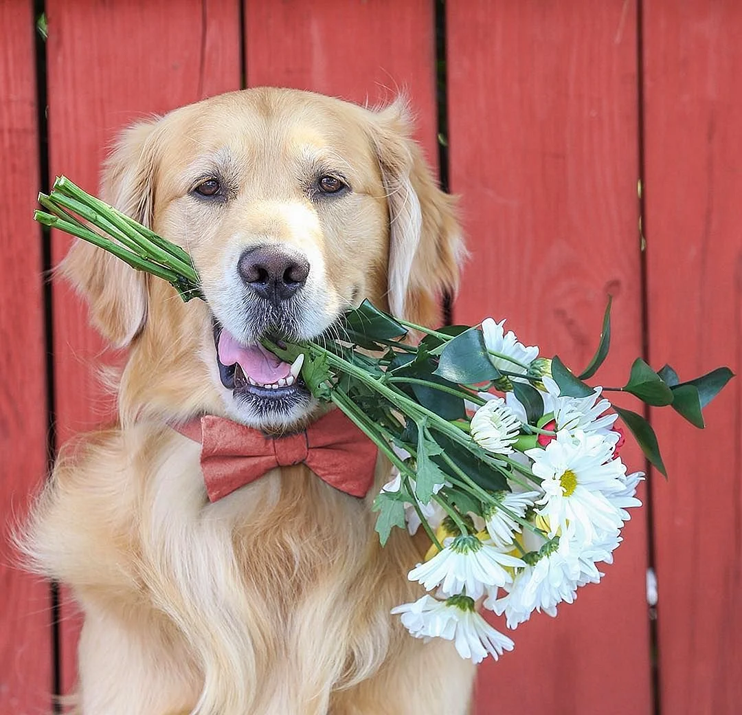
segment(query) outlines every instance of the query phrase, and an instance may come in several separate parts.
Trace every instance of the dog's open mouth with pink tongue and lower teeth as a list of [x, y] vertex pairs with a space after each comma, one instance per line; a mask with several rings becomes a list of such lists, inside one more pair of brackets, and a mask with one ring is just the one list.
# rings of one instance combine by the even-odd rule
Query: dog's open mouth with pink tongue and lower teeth
[[257, 343], [244, 345], [214, 321], [214, 345], [222, 385], [257, 405], [289, 407], [309, 399], [309, 390], [299, 376], [303, 355], [289, 364]]

